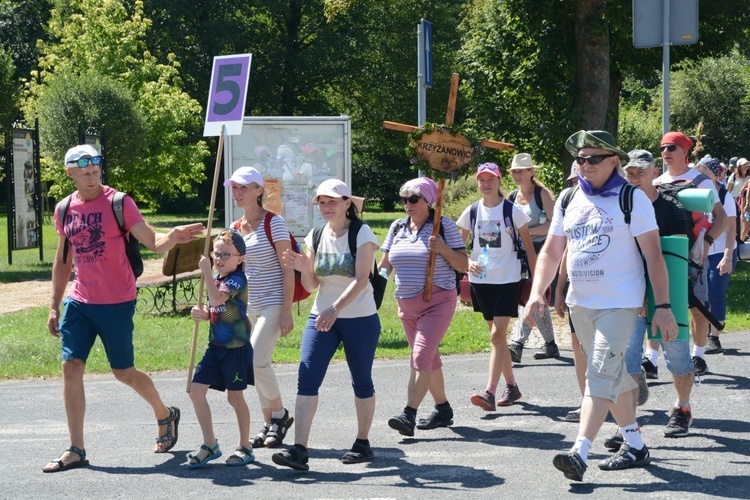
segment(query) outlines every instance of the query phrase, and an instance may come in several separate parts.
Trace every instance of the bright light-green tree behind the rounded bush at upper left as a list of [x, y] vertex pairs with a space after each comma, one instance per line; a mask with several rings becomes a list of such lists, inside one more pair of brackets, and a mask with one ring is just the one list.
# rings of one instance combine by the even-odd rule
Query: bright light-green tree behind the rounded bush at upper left
[[[144, 140], [135, 158], [120, 155], [115, 143], [127, 139], [107, 123], [112, 151], [109, 174], [152, 206], [157, 195], [191, 191], [192, 183], [203, 179], [202, 160], [208, 155], [206, 144], [196, 137], [202, 123], [201, 106], [182, 91], [177, 60], [167, 56], [166, 63], [160, 64], [147, 50], [150, 21], [144, 16], [143, 3], [135, 0], [130, 13], [117, 0], [58, 0], [56, 5], [49, 23], [50, 41], [40, 44], [40, 71], [32, 74], [26, 116], [38, 113], [40, 100], [60, 75], [83, 80], [101, 76], [119, 82], [129, 90], [143, 117]], [[52, 130], [41, 118], [40, 129]], [[71, 123], [72, 118], [65, 120]], [[41, 130], [40, 135], [47, 154], [47, 137]], [[47, 169], [62, 162], [62, 150], [49, 153]]]

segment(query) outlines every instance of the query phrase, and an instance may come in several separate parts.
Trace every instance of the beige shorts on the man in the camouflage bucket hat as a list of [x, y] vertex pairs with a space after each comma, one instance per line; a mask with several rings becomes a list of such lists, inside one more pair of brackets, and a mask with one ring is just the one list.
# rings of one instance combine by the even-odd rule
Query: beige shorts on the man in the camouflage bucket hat
[[586, 396], [616, 402], [618, 395], [637, 387], [625, 366], [625, 351], [637, 316], [637, 307], [570, 307], [570, 318], [587, 359]]

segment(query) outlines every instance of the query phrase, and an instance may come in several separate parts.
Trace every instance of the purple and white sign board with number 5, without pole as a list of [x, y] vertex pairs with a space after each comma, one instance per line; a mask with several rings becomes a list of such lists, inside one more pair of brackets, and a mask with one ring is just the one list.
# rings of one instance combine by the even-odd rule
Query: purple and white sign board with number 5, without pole
[[222, 125], [227, 135], [242, 132], [251, 60], [252, 54], [214, 58], [203, 135], [219, 135]]

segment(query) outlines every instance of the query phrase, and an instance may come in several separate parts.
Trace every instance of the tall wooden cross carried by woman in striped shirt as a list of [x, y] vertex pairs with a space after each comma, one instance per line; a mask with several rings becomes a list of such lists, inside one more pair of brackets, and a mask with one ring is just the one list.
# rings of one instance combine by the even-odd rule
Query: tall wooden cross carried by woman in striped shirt
[[[450, 95], [448, 96], [448, 109], [445, 114], [445, 124], [446, 125], [452, 125], [453, 124], [453, 118], [456, 114], [456, 98], [458, 97], [458, 73], [453, 73], [451, 75], [451, 91]], [[403, 123], [396, 123], [396, 122], [383, 122], [383, 127], [389, 129], [389, 130], [397, 130], [399, 132], [406, 132], [411, 134], [415, 130], [417, 130], [419, 127], [415, 127], [414, 125], [405, 125]], [[445, 134], [443, 134], [445, 135]], [[448, 134], [449, 135], [449, 134]], [[451, 141], [450, 139], [448, 139]], [[446, 141], [446, 138], [443, 138], [443, 141]], [[457, 144], [455, 144], [455, 141], [452, 142], [452, 150], [456, 150], [458, 153], [458, 160], [449, 161], [447, 160], [447, 156], [443, 157], [443, 160], [441, 161], [440, 158], [437, 158], [437, 162], [430, 161], [430, 159], [426, 158], [426, 156], [429, 156], [428, 153], [423, 154], [423, 150], [421, 148], [417, 148], [418, 153], [420, 156], [422, 156], [425, 159], [428, 159], [430, 161], [430, 166], [436, 170], [441, 170], [443, 172], [451, 172], [454, 170], [458, 170], [464, 165], [466, 165], [471, 160], [471, 151], [466, 149], [467, 145], [469, 144], [466, 139], [463, 137], [458, 138]], [[491, 148], [491, 149], [501, 149], [504, 151], [513, 151], [513, 144], [509, 144], [507, 142], [499, 142], [499, 141], [492, 141], [489, 139], [485, 139], [480, 143], [485, 148]], [[463, 149], [462, 149], [463, 146]], [[446, 148], [442, 148], [446, 149]], [[443, 153], [439, 153], [443, 154]], [[468, 155], [468, 159], [466, 159], [466, 156]], [[434, 160], [434, 158], [433, 158]], [[440, 220], [443, 216], [443, 191], [445, 189], [445, 179], [442, 177], [438, 180], [438, 194], [437, 194], [437, 200], [435, 202], [435, 219], [433, 221], [432, 226], [432, 236], [437, 237], [440, 232]], [[432, 276], [435, 271], [435, 252], [430, 252], [430, 258], [427, 264], [427, 278], [425, 280], [425, 286], [424, 286], [424, 295], [423, 299], [425, 302], [428, 302], [430, 300], [430, 297], [432, 296]]]

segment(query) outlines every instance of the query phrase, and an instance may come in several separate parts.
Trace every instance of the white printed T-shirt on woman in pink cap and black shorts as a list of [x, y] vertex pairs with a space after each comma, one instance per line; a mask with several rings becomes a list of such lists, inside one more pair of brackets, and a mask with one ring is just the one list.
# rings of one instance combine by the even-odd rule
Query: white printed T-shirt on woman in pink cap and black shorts
[[[479, 278], [469, 273], [469, 281], [477, 284], [502, 285], [505, 283], [516, 283], [521, 279], [521, 260], [513, 248], [513, 238], [510, 234], [510, 221], [503, 220], [503, 205], [510, 203], [503, 201], [496, 207], [487, 208], [482, 200], [477, 206], [476, 231], [471, 227], [471, 205], [466, 207], [456, 225], [461, 229], [472, 231], [474, 234], [471, 260], [478, 260], [482, 247], [487, 245], [490, 254], [490, 264], [487, 266], [487, 274]], [[513, 206], [513, 224], [518, 229], [525, 226], [531, 220], [528, 215], [516, 205]]]

